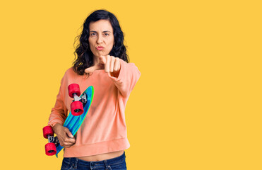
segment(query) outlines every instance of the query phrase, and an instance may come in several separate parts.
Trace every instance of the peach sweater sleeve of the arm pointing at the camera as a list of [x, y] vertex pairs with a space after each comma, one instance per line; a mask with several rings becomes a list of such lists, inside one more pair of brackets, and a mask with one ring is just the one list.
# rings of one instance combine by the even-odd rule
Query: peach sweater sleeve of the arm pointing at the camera
[[122, 96], [127, 97], [130, 95], [133, 90], [136, 82], [141, 76], [138, 67], [133, 63], [126, 63], [124, 60], [120, 60], [121, 67], [118, 77], [112, 77], [109, 74], [109, 78], [114, 81], [114, 84], [119, 89]]

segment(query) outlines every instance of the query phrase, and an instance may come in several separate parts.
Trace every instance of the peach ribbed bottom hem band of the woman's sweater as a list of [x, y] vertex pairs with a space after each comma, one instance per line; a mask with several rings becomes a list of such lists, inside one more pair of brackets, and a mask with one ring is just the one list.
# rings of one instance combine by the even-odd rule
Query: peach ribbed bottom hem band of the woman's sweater
[[64, 157], [87, 157], [96, 154], [105, 154], [128, 149], [130, 147], [127, 138], [99, 142], [89, 145], [72, 146], [64, 149]]

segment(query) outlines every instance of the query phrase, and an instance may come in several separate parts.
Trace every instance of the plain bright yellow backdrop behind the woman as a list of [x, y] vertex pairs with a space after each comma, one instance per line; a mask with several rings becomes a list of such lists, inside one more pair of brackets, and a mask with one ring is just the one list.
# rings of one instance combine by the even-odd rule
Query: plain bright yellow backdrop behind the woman
[[261, 1], [1, 1], [1, 167], [59, 169], [47, 125], [91, 11], [119, 19], [141, 79], [133, 169], [262, 169]]

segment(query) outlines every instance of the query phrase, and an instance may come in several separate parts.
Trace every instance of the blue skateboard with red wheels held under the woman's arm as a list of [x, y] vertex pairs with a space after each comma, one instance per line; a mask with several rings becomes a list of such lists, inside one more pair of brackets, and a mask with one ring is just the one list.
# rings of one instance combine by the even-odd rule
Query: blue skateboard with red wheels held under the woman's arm
[[[82, 125], [83, 120], [85, 119], [85, 116], [87, 115], [90, 105], [93, 101], [94, 87], [89, 86], [88, 89], [83, 92], [83, 94], [81, 94], [78, 84], [70, 84], [68, 89], [69, 96], [73, 98], [73, 102], [71, 103], [71, 111], [67, 116], [63, 126], [69, 128], [70, 132], [74, 136]], [[44, 138], [48, 139], [48, 143], [45, 145], [45, 154], [48, 156], [56, 154], [56, 157], [58, 157], [59, 152], [64, 147], [59, 144], [58, 138], [54, 137], [54, 131], [52, 127], [45, 126], [43, 128], [43, 135]]]

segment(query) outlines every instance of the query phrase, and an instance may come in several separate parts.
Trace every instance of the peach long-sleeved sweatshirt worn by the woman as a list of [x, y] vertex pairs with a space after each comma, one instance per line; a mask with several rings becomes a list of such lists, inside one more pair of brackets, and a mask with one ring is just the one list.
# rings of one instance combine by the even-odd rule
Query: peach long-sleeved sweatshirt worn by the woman
[[119, 77], [111, 77], [102, 69], [95, 70], [90, 77], [76, 74], [72, 67], [66, 70], [48, 125], [64, 125], [73, 100], [68, 94], [69, 84], [79, 84], [81, 93], [93, 86], [95, 92], [88, 114], [76, 133], [76, 144], [64, 149], [64, 157], [85, 157], [130, 147], [124, 110], [141, 73], [135, 64], [120, 62]]

